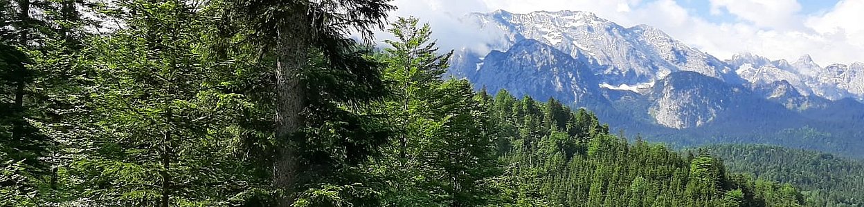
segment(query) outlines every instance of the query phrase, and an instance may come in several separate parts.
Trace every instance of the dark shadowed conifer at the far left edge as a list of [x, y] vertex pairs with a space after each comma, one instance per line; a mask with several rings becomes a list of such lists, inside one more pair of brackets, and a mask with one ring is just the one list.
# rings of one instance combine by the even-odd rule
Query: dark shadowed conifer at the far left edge
[[[45, 1], [0, 2], [0, 160], [18, 167], [12, 172], [25, 178], [14, 184], [29, 195], [29, 204], [40, 205], [46, 196], [38, 185], [53, 173], [51, 154], [54, 141], [38, 128], [44, 118], [39, 85], [41, 72], [33, 53], [45, 51], [42, 42], [51, 34], [50, 18], [40, 14], [53, 9]], [[51, 177], [54, 180], [54, 177]]]

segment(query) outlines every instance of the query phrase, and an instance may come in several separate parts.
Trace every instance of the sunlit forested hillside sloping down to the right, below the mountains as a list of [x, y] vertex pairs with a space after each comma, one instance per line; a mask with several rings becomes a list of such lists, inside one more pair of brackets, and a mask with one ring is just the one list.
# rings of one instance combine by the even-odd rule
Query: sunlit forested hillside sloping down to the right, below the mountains
[[[708, 154], [682, 156], [641, 139], [610, 135], [585, 110], [571, 113], [550, 99], [492, 100], [499, 154], [515, 179], [518, 199], [550, 206], [801, 206], [802, 195], [778, 185], [726, 173]], [[515, 191], [515, 190], [510, 190]], [[531, 195], [542, 195], [531, 197]]]

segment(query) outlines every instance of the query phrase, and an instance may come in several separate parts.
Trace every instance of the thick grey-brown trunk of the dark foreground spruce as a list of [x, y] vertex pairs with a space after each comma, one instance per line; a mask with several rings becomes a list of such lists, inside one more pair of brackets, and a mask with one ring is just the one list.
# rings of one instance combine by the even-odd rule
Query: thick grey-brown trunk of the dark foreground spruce
[[305, 13], [294, 12], [287, 25], [278, 28], [276, 37], [276, 140], [280, 145], [273, 163], [273, 185], [283, 190], [277, 206], [294, 204], [298, 187], [298, 150], [292, 136], [303, 125], [302, 110], [306, 107], [306, 89], [302, 83], [303, 69], [308, 65], [309, 25]]

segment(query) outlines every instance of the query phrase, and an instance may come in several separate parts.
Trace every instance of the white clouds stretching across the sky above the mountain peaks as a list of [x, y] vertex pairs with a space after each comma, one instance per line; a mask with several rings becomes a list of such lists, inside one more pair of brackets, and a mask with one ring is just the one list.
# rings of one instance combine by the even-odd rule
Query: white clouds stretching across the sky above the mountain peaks
[[674, 0], [396, 0], [399, 9], [393, 16], [418, 16], [429, 22], [439, 45], [447, 49], [483, 47], [497, 37], [457, 20], [469, 12], [584, 10], [625, 27], [660, 28], [720, 59], [750, 52], [775, 60], [797, 60], [810, 53], [823, 66], [864, 61], [864, 1], [841, 0], [833, 9], [812, 16], [800, 14], [795, 0], [708, 1], [712, 12], [727, 12], [738, 20], [708, 22]]

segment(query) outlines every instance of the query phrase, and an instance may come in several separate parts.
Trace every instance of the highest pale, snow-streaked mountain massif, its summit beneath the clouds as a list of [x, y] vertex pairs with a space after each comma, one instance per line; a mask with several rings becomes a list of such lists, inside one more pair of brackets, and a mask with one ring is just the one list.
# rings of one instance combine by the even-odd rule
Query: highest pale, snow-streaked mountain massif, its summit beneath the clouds
[[481, 22], [482, 28], [498, 28], [505, 34], [505, 43], [495, 47], [509, 47], [522, 39], [535, 39], [577, 60], [589, 56], [588, 63], [596, 65], [592, 70], [600, 76], [601, 83], [638, 85], [678, 71], [737, 81], [721, 60], [645, 25], [625, 28], [582, 11], [512, 14], [498, 10], [489, 14], [473, 13], [467, 18]]

